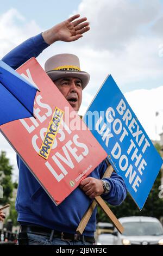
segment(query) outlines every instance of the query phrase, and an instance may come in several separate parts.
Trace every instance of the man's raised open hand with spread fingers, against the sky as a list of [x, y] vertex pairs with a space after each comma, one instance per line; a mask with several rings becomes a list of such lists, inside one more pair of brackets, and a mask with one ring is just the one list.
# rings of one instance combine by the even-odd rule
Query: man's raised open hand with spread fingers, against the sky
[[[43, 39], [49, 45], [55, 41], [72, 42], [82, 38], [82, 34], [89, 31], [89, 22], [86, 22], [86, 17], [78, 19], [79, 14], [70, 17], [54, 27], [42, 33]], [[78, 19], [78, 20], [76, 20]], [[74, 21], [76, 20], [76, 21]]]

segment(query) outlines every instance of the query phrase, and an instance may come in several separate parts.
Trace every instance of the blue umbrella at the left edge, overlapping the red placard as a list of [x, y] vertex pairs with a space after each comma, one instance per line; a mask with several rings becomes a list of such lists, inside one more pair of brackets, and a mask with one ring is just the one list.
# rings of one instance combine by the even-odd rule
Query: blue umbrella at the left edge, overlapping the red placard
[[36, 92], [37, 88], [0, 60], [0, 125], [33, 117]]

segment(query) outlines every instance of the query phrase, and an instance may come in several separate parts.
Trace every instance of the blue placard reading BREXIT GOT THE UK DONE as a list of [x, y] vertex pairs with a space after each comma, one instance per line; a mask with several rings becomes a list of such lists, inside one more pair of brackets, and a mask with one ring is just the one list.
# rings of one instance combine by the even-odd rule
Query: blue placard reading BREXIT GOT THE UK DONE
[[111, 75], [87, 109], [84, 121], [141, 210], [163, 161]]

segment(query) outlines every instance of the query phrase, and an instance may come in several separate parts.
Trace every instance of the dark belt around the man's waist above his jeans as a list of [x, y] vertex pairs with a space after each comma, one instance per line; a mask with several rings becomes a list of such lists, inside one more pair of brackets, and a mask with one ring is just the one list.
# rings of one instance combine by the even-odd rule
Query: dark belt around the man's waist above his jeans
[[34, 225], [21, 225], [19, 233], [33, 233], [37, 235], [48, 236], [52, 238], [59, 238], [62, 241], [86, 241], [95, 243], [95, 237], [84, 236], [78, 234], [70, 234], [66, 232], [61, 232], [58, 230], [52, 230], [49, 228], [34, 226]]

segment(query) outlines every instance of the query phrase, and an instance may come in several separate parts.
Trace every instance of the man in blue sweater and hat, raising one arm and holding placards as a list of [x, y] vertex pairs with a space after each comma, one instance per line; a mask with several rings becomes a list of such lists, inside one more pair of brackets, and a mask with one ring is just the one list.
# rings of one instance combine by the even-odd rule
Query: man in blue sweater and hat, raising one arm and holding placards
[[[79, 16], [74, 15], [28, 39], [8, 53], [3, 61], [16, 69], [29, 58], [39, 56], [55, 41], [78, 40], [90, 29], [86, 18], [78, 19]], [[47, 60], [45, 69], [74, 110], [78, 111], [82, 103], [82, 90], [89, 82], [89, 74], [80, 71], [78, 57], [73, 54], [53, 56]], [[76, 234], [78, 224], [92, 199], [101, 195], [109, 204], [118, 205], [126, 197], [127, 190], [121, 176], [112, 173], [110, 178], [102, 180], [107, 168], [103, 161], [80, 183], [80, 187], [59, 206], [55, 206], [20, 157], [17, 157], [17, 163], [20, 170], [16, 199], [18, 222], [21, 225], [19, 244], [92, 245], [95, 242], [96, 210], [93, 211], [83, 235]]]

